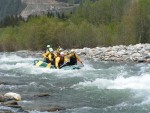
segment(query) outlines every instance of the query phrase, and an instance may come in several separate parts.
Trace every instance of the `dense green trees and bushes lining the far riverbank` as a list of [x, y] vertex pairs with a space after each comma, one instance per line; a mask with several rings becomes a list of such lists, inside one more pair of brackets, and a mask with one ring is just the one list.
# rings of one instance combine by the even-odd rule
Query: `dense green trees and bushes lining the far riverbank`
[[47, 44], [82, 48], [150, 42], [150, 0], [83, 1], [70, 14], [27, 21], [6, 17], [0, 23], [0, 51], [43, 50]]

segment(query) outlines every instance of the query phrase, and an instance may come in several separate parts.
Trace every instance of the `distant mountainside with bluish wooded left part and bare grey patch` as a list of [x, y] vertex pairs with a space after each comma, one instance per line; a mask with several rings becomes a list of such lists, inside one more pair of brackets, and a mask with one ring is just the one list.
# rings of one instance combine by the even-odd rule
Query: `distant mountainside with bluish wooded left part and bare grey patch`
[[[71, 0], [72, 1], [72, 0]], [[81, 0], [74, 0], [79, 3]], [[70, 4], [68, 0], [0, 0], [0, 20], [8, 15], [41, 15], [47, 12], [64, 12], [74, 9], [77, 4]]]

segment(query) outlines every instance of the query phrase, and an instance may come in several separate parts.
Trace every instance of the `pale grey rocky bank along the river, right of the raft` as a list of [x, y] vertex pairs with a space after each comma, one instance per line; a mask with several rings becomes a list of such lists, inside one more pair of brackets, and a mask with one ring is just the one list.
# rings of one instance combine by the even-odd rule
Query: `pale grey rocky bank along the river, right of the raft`
[[96, 47], [76, 49], [76, 53], [85, 58], [101, 61], [128, 61], [150, 63], [150, 44], [118, 45], [112, 47]]

